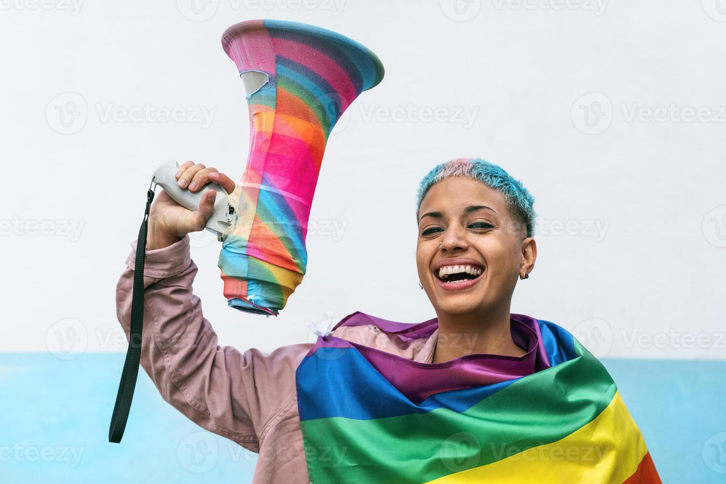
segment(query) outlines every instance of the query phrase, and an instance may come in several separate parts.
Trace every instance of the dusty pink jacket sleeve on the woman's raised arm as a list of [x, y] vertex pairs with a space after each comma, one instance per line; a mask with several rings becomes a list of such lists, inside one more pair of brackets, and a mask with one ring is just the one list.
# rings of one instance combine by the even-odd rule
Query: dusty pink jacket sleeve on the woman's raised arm
[[[116, 287], [118, 321], [129, 340], [136, 241]], [[219, 346], [192, 293], [197, 266], [189, 237], [147, 250], [141, 366], [165, 401], [193, 422], [259, 452], [267, 424], [295, 398], [295, 369], [311, 345], [263, 353]], [[246, 322], [246, 321], [245, 321]]]

